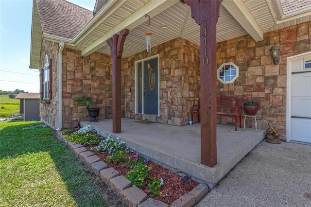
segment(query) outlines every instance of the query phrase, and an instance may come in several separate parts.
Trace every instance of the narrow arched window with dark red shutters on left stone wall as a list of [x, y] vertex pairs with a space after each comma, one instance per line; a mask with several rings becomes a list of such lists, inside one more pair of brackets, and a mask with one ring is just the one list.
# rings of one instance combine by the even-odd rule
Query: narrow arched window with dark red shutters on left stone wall
[[48, 55], [45, 55], [44, 58], [44, 67], [40, 72], [40, 95], [41, 100], [51, 100], [52, 99], [52, 59], [48, 58]]

